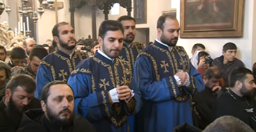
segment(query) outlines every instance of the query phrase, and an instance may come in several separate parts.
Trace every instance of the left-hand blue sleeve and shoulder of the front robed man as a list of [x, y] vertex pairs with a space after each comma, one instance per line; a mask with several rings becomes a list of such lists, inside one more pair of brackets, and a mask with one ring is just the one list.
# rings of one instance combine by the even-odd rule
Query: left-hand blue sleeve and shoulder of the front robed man
[[[92, 92], [92, 64], [93, 57], [81, 61], [69, 77], [68, 84], [74, 92], [75, 113], [95, 122], [109, 117], [113, 112], [108, 90]], [[101, 109], [105, 107], [108, 112], [101, 113]]]

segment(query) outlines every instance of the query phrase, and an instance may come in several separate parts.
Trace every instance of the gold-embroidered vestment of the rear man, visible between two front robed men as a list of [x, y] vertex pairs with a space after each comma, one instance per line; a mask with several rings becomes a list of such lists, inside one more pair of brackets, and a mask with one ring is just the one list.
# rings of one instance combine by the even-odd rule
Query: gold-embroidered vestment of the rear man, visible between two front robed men
[[119, 58], [121, 60], [126, 60], [129, 64], [131, 64], [131, 70], [133, 70], [138, 53], [140, 53], [143, 48], [144, 45], [141, 42], [131, 42], [129, 47], [127, 44], [122, 44], [122, 51], [119, 54]]

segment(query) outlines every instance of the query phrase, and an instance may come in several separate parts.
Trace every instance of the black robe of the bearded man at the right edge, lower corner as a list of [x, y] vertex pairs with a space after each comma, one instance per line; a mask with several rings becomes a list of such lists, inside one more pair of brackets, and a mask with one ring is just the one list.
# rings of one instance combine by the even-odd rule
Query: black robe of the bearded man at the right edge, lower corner
[[[256, 105], [253, 99], [250, 99], [250, 97], [239, 97], [232, 90], [227, 90], [220, 95], [216, 103], [213, 119], [224, 115], [231, 115], [245, 122], [256, 131]], [[253, 108], [253, 110], [249, 110], [250, 108]], [[247, 110], [251, 111], [251, 113]]]

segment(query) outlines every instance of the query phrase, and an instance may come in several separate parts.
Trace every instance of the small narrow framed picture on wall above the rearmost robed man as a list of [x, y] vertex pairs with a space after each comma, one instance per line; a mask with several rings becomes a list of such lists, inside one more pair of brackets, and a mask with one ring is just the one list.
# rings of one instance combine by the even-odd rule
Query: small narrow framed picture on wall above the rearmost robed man
[[134, 19], [136, 24], [147, 23], [147, 0], [134, 0]]

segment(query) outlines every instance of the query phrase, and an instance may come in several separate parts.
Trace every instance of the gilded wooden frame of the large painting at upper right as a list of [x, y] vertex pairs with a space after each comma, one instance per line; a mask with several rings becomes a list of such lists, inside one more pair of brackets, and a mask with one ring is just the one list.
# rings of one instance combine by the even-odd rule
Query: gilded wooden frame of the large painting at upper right
[[184, 31], [185, 28], [185, 1], [180, 0], [180, 38], [241, 38], [243, 37], [244, 0], [234, 0], [234, 28], [211, 31]]

